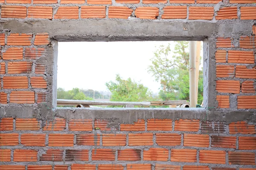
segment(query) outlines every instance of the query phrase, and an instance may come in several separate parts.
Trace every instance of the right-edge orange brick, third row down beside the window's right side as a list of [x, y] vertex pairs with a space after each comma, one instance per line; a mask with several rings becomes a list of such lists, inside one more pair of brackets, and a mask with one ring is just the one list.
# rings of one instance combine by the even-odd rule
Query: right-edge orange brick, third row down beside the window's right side
[[242, 79], [256, 79], [256, 67], [250, 69], [245, 65], [236, 65], [236, 77]]

